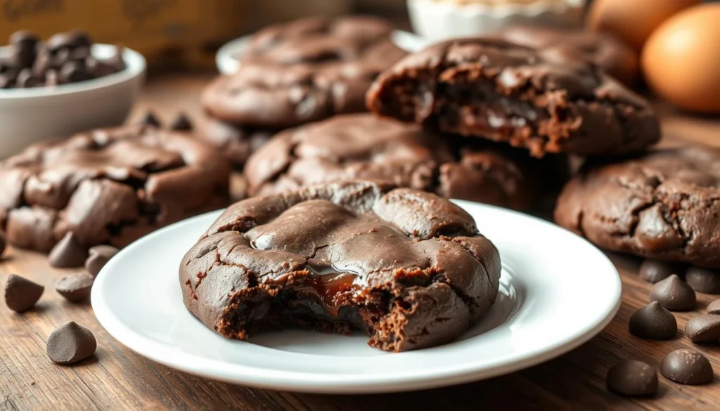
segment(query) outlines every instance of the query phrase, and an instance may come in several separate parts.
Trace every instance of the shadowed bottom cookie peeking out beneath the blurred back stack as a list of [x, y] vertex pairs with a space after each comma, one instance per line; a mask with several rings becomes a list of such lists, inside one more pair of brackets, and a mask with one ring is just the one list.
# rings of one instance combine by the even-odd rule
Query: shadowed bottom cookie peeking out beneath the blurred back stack
[[212, 117], [206, 117], [197, 129], [197, 137], [216, 147], [235, 168], [242, 168], [273, 134], [274, 130], [240, 127]]

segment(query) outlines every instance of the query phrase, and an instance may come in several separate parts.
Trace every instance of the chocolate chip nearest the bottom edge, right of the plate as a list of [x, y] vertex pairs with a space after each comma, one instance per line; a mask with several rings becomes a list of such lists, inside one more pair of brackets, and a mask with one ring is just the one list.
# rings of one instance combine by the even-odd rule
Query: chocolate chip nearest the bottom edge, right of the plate
[[652, 395], [657, 392], [657, 372], [647, 363], [624, 360], [608, 371], [608, 389], [624, 395]]

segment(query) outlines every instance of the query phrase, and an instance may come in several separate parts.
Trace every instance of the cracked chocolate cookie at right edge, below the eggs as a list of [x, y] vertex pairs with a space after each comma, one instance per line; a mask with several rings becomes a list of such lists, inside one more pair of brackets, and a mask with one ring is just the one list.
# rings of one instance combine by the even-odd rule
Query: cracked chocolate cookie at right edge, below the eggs
[[720, 267], [720, 150], [595, 159], [564, 187], [555, 221], [609, 250]]

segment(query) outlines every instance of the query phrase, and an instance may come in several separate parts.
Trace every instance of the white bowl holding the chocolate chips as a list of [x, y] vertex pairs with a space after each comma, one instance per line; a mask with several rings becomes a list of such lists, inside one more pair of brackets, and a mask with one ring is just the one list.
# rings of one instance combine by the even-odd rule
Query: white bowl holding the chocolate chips
[[[114, 55], [114, 45], [93, 45], [97, 58]], [[8, 47], [0, 48], [0, 56]], [[0, 158], [41, 140], [97, 127], [122, 124], [130, 114], [145, 78], [145, 58], [134, 50], [122, 54], [127, 68], [102, 78], [55, 87], [0, 90]]]

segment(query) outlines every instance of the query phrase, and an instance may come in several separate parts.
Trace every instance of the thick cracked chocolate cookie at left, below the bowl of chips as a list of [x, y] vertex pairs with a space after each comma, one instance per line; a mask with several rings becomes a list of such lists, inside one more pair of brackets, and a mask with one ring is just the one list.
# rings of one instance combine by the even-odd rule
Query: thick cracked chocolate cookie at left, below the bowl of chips
[[228, 204], [227, 161], [184, 132], [148, 125], [32, 145], [0, 163], [10, 243], [49, 251], [68, 232], [86, 248], [122, 247]]

